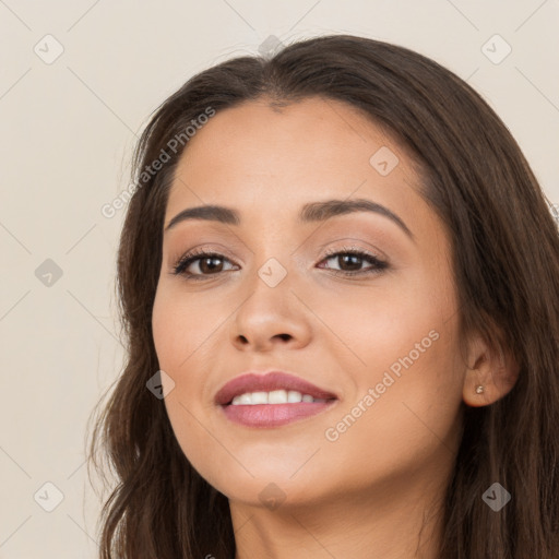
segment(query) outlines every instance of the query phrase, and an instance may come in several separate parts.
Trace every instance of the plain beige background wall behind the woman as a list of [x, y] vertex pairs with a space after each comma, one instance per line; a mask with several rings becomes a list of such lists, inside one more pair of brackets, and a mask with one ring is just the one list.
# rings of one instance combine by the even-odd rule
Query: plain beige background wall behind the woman
[[127, 188], [164, 98], [270, 35], [393, 41], [467, 79], [559, 203], [558, 25], [559, 0], [0, 0], [0, 558], [96, 557], [84, 436], [123, 357], [112, 283], [124, 210], [100, 209]]

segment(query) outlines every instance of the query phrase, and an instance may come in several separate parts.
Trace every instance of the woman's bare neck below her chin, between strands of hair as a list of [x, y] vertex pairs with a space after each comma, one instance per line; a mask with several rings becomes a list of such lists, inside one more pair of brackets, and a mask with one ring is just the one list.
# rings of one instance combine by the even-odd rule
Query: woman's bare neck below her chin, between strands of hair
[[[445, 477], [445, 476], [442, 476]], [[438, 559], [440, 479], [407, 478], [269, 510], [229, 501], [235, 559]]]

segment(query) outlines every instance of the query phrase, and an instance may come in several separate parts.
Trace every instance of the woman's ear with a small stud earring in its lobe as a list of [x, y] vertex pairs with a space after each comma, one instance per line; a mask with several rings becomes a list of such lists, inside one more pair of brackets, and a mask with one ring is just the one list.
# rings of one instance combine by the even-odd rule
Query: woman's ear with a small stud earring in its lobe
[[[464, 376], [463, 400], [468, 406], [487, 406], [507, 395], [516, 383], [520, 366], [502, 345], [488, 343], [476, 334], [468, 344], [467, 370]], [[480, 393], [477, 386], [483, 386]]]

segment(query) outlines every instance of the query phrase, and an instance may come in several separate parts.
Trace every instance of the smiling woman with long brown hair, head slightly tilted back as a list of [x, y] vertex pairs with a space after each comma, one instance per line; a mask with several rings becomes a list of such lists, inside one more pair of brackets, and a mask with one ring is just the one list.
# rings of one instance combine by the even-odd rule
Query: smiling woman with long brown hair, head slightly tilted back
[[229, 60], [134, 180], [103, 558], [556, 557], [559, 237], [466, 83], [354, 36]]

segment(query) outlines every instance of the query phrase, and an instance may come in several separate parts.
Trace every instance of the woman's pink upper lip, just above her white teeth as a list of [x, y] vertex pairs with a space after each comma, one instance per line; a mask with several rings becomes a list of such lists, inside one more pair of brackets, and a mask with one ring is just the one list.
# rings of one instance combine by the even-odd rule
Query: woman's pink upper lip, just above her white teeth
[[271, 392], [273, 390], [294, 390], [309, 394], [317, 400], [337, 400], [337, 396], [299, 377], [283, 371], [270, 371], [265, 374], [247, 372], [227, 382], [216, 394], [217, 405], [229, 405], [235, 396], [251, 392]]

